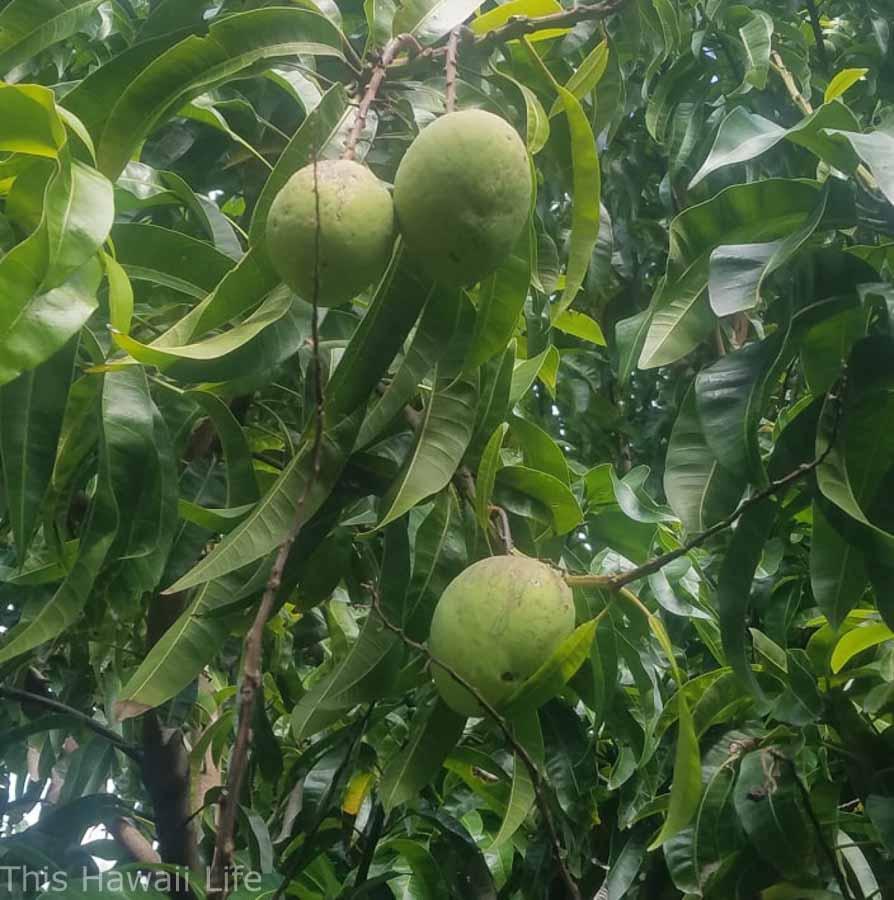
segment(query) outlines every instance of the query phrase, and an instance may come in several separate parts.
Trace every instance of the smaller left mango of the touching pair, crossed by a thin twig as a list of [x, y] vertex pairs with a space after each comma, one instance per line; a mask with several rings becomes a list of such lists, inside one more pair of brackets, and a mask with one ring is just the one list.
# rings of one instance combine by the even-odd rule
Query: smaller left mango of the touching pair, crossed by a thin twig
[[[394, 241], [388, 189], [352, 160], [317, 163], [320, 194], [320, 306], [356, 297], [385, 270]], [[267, 216], [267, 250], [282, 280], [311, 302], [314, 292], [316, 202], [313, 164], [299, 169], [276, 195]]]

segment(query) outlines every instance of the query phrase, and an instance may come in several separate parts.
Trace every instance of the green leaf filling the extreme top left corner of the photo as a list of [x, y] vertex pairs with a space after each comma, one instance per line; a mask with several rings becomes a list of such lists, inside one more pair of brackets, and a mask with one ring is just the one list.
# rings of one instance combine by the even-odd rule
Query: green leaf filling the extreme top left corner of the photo
[[0, 74], [83, 30], [102, 0], [12, 0], [0, 12]]

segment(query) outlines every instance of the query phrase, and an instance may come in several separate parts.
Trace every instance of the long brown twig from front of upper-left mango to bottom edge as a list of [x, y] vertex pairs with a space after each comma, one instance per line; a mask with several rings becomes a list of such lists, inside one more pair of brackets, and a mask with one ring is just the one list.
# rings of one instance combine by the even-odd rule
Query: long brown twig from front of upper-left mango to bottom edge
[[276, 596], [282, 584], [283, 572], [292, 545], [295, 543], [303, 524], [304, 504], [310, 494], [311, 488], [320, 474], [321, 449], [323, 446], [323, 375], [320, 362], [320, 334], [319, 334], [319, 299], [320, 299], [320, 192], [317, 181], [317, 150], [313, 150], [314, 167], [314, 201], [316, 205], [316, 231], [314, 234], [314, 283], [313, 283], [313, 314], [311, 318], [313, 336], [313, 369], [314, 392], [316, 407], [314, 418], [316, 428], [313, 444], [313, 468], [304, 491], [298, 499], [295, 507], [295, 516], [289, 532], [280, 544], [276, 554], [276, 560], [267, 579], [261, 603], [255, 615], [251, 629], [245, 637], [243, 649], [242, 684], [239, 688], [239, 720], [236, 730], [236, 740], [230, 755], [230, 765], [227, 770], [227, 785], [220, 798], [220, 823], [217, 830], [217, 838], [214, 847], [214, 859], [211, 864], [209, 898], [214, 900], [226, 900], [229, 894], [229, 879], [226, 877], [232, 868], [233, 854], [236, 850], [236, 814], [239, 807], [239, 796], [242, 792], [242, 782], [248, 767], [249, 747], [252, 737], [252, 720], [255, 704], [263, 679], [261, 662], [264, 650], [264, 629], [267, 621], [273, 613], [276, 605]]

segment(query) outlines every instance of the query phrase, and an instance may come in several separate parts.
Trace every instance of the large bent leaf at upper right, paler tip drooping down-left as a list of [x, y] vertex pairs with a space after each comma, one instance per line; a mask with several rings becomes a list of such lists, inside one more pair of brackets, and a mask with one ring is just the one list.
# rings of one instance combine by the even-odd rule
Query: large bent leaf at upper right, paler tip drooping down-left
[[652, 301], [641, 369], [676, 362], [713, 327], [705, 297], [713, 251], [785, 237], [814, 210], [819, 189], [813, 181], [772, 178], [733, 185], [671, 222], [666, 282]]

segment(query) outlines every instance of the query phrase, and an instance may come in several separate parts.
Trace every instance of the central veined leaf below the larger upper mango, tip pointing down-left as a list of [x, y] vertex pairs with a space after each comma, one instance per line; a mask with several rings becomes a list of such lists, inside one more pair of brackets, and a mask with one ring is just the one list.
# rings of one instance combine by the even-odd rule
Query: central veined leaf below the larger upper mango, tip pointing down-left
[[416, 443], [382, 501], [379, 528], [450, 483], [472, 439], [477, 406], [477, 372], [435, 390], [422, 413]]

